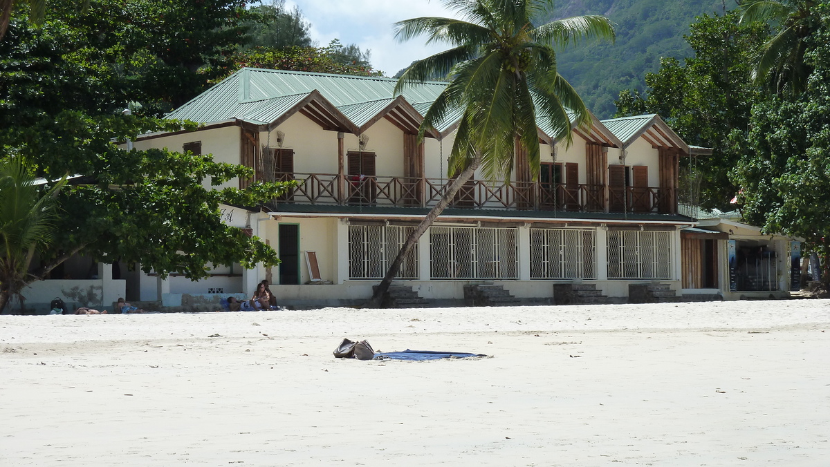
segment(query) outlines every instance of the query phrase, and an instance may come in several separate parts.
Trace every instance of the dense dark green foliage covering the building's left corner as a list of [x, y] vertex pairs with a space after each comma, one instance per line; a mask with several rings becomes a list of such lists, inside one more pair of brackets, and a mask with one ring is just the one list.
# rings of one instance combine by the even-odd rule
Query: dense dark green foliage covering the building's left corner
[[[278, 261], [270, 247], [222, 223], [219, 212], [220, 203], [256, 207], [281, 192], [277, 184], [206, 189], [251, 169], [214, 163], [210, 155], [117, 144], [152, 131], [195, 129], [120, 110], [138, 100], [154, 114], [157, 104], [189, 99], [207, 85], [209, 56], [222, 56], [229, 40], [222, 17], [235, 16], [243, 3], [205, 1], [212, 8], [198, 8], [201, 0], [105, 0], [88, 13], [51, 10], [42, 27], [12, 21], [0, 41], [0, 158], [27, 158], [47, 180], [81, 175], [57, 198], [54, 246], [41, 254], [36, 277], [76, 252], [192, 279], [205, 277], [208, 263]], [[131, 18], [128, 26], [113, 26], [119, 14]], [[206, 30], [188, 26], [192, 20]], [[143, 36], [150, 32], [156, 43]]]

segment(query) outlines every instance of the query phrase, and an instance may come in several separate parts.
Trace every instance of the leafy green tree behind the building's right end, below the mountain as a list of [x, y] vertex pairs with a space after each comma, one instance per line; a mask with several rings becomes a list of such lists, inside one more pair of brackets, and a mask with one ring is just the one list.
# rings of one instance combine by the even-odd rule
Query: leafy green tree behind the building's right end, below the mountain
[[[735, 12], [698, 17], [686, 36], [694, 56], [682, 64], [662, 59], [660, 71], [646, 75], [646, 96], [627, 90], [615, 102], [617, 116], [660, 114], [688, 144], [714, 149], [701, 163], [706, 169], [696, 171], [700, 179], [685, 178], [687, 187], [697, 184], [700, 199], [687, 188], [684, 202], [726, 209], [737, 192], [729, 172], [740, 158], [750, 109], [763, 98], [750, 79], [750, 57], [766, 37], [764, 25], [739, 24]], [[689, 160], [682, 163], [688, 174]]]

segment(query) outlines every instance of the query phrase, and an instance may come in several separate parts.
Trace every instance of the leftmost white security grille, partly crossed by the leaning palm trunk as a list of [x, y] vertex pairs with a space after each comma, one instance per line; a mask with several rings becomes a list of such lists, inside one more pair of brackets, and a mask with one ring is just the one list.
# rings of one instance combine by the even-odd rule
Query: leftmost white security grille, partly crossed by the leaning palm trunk
[[[349, 226], [349, 279], [383, 279], [413, 226]], [[398, 279], [417, 279], [417, 244], [403, 260]]]

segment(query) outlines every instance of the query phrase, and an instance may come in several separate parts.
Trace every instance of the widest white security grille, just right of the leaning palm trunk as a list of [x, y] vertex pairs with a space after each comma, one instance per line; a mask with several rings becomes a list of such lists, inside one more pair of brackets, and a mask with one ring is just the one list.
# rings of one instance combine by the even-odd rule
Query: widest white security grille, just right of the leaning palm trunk
[[518, 279], [515, 228], [432, 227], [432, 279]]

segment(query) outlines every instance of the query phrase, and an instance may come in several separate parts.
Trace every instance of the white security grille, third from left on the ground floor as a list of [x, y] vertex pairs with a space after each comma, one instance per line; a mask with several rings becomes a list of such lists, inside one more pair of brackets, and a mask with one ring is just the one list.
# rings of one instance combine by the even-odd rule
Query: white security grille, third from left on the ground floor
[[597, 231], [530, 229], [531, 279], [596, 279]]

